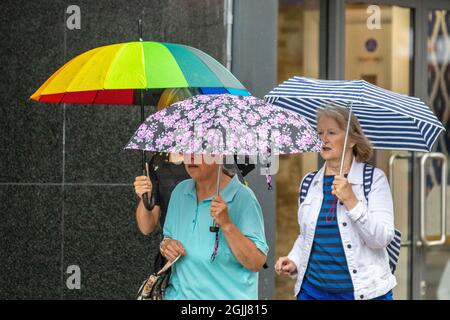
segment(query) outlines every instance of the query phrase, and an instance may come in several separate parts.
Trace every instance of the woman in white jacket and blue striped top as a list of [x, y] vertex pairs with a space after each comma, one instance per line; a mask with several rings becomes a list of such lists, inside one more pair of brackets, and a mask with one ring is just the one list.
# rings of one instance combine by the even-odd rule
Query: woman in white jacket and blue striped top
[[296, 278], [298, 300], [393, 299], [396, 279], [386, 251], [394, 238], [392, 195], [383, 171], [375, 168], [366, 200], [364, 163], [372, 146], [352, 115], [344, 148], [348, 115], [336, 107], [317, 113], [325, 164], [299, 199], [300, 234], [289, 255], [275, 265], [278, 274]]

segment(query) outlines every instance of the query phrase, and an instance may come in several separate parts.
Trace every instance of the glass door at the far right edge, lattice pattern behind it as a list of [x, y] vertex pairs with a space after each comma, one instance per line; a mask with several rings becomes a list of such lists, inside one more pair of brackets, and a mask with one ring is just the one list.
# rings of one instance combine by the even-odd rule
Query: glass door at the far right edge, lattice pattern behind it
[[[429, 3], [433, 5], [433, 3]], [[420, 297], [423, 299], [450, 299], [450, 199], [449, 168], [446, 165], [450, 151], [450, 11], [427, 10], [427, 98], [446, 132], [436, 142], [434, 157], [422, 160], [425, 198], [421, 217], [423, 259], [421, 261]], [[446, 207], [445, 207], [446, 205]]]

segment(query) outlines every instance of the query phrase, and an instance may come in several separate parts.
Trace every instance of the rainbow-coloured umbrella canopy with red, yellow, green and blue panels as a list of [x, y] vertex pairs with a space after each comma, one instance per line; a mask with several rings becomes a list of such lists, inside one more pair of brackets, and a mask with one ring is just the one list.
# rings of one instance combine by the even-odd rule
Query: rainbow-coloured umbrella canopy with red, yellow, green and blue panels
[[[107, 45], [73, 58], [56, 71], [31, 99], [54, 103], [156, 105], [167, 88], [197, 93], [249, 95], [231, 72], [193, 47], [151, 41]], [[137, 91], [139, 90], [139, 91]]]

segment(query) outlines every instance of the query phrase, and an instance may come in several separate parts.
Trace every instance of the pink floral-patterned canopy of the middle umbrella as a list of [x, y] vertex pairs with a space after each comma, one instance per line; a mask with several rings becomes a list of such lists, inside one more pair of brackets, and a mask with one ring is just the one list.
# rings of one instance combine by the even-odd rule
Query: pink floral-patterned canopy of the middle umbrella
[[300, 115], [253, 96], [197, 95], [149, 116], [126, 149], [194, 154], [318, 152], [321, 142]]

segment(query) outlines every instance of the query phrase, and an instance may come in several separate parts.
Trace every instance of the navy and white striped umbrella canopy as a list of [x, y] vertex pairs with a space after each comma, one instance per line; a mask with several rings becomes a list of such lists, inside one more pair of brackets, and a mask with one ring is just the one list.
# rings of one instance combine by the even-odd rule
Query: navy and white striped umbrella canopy
[[293, 77], [265, 96], [274, 105], [304, 116], [316, 128], [316, 112], [330, 103], [349, 107], [377, 149], [431, 151], [445, 130], [420, 99], [377, 87], [364, 80]]

